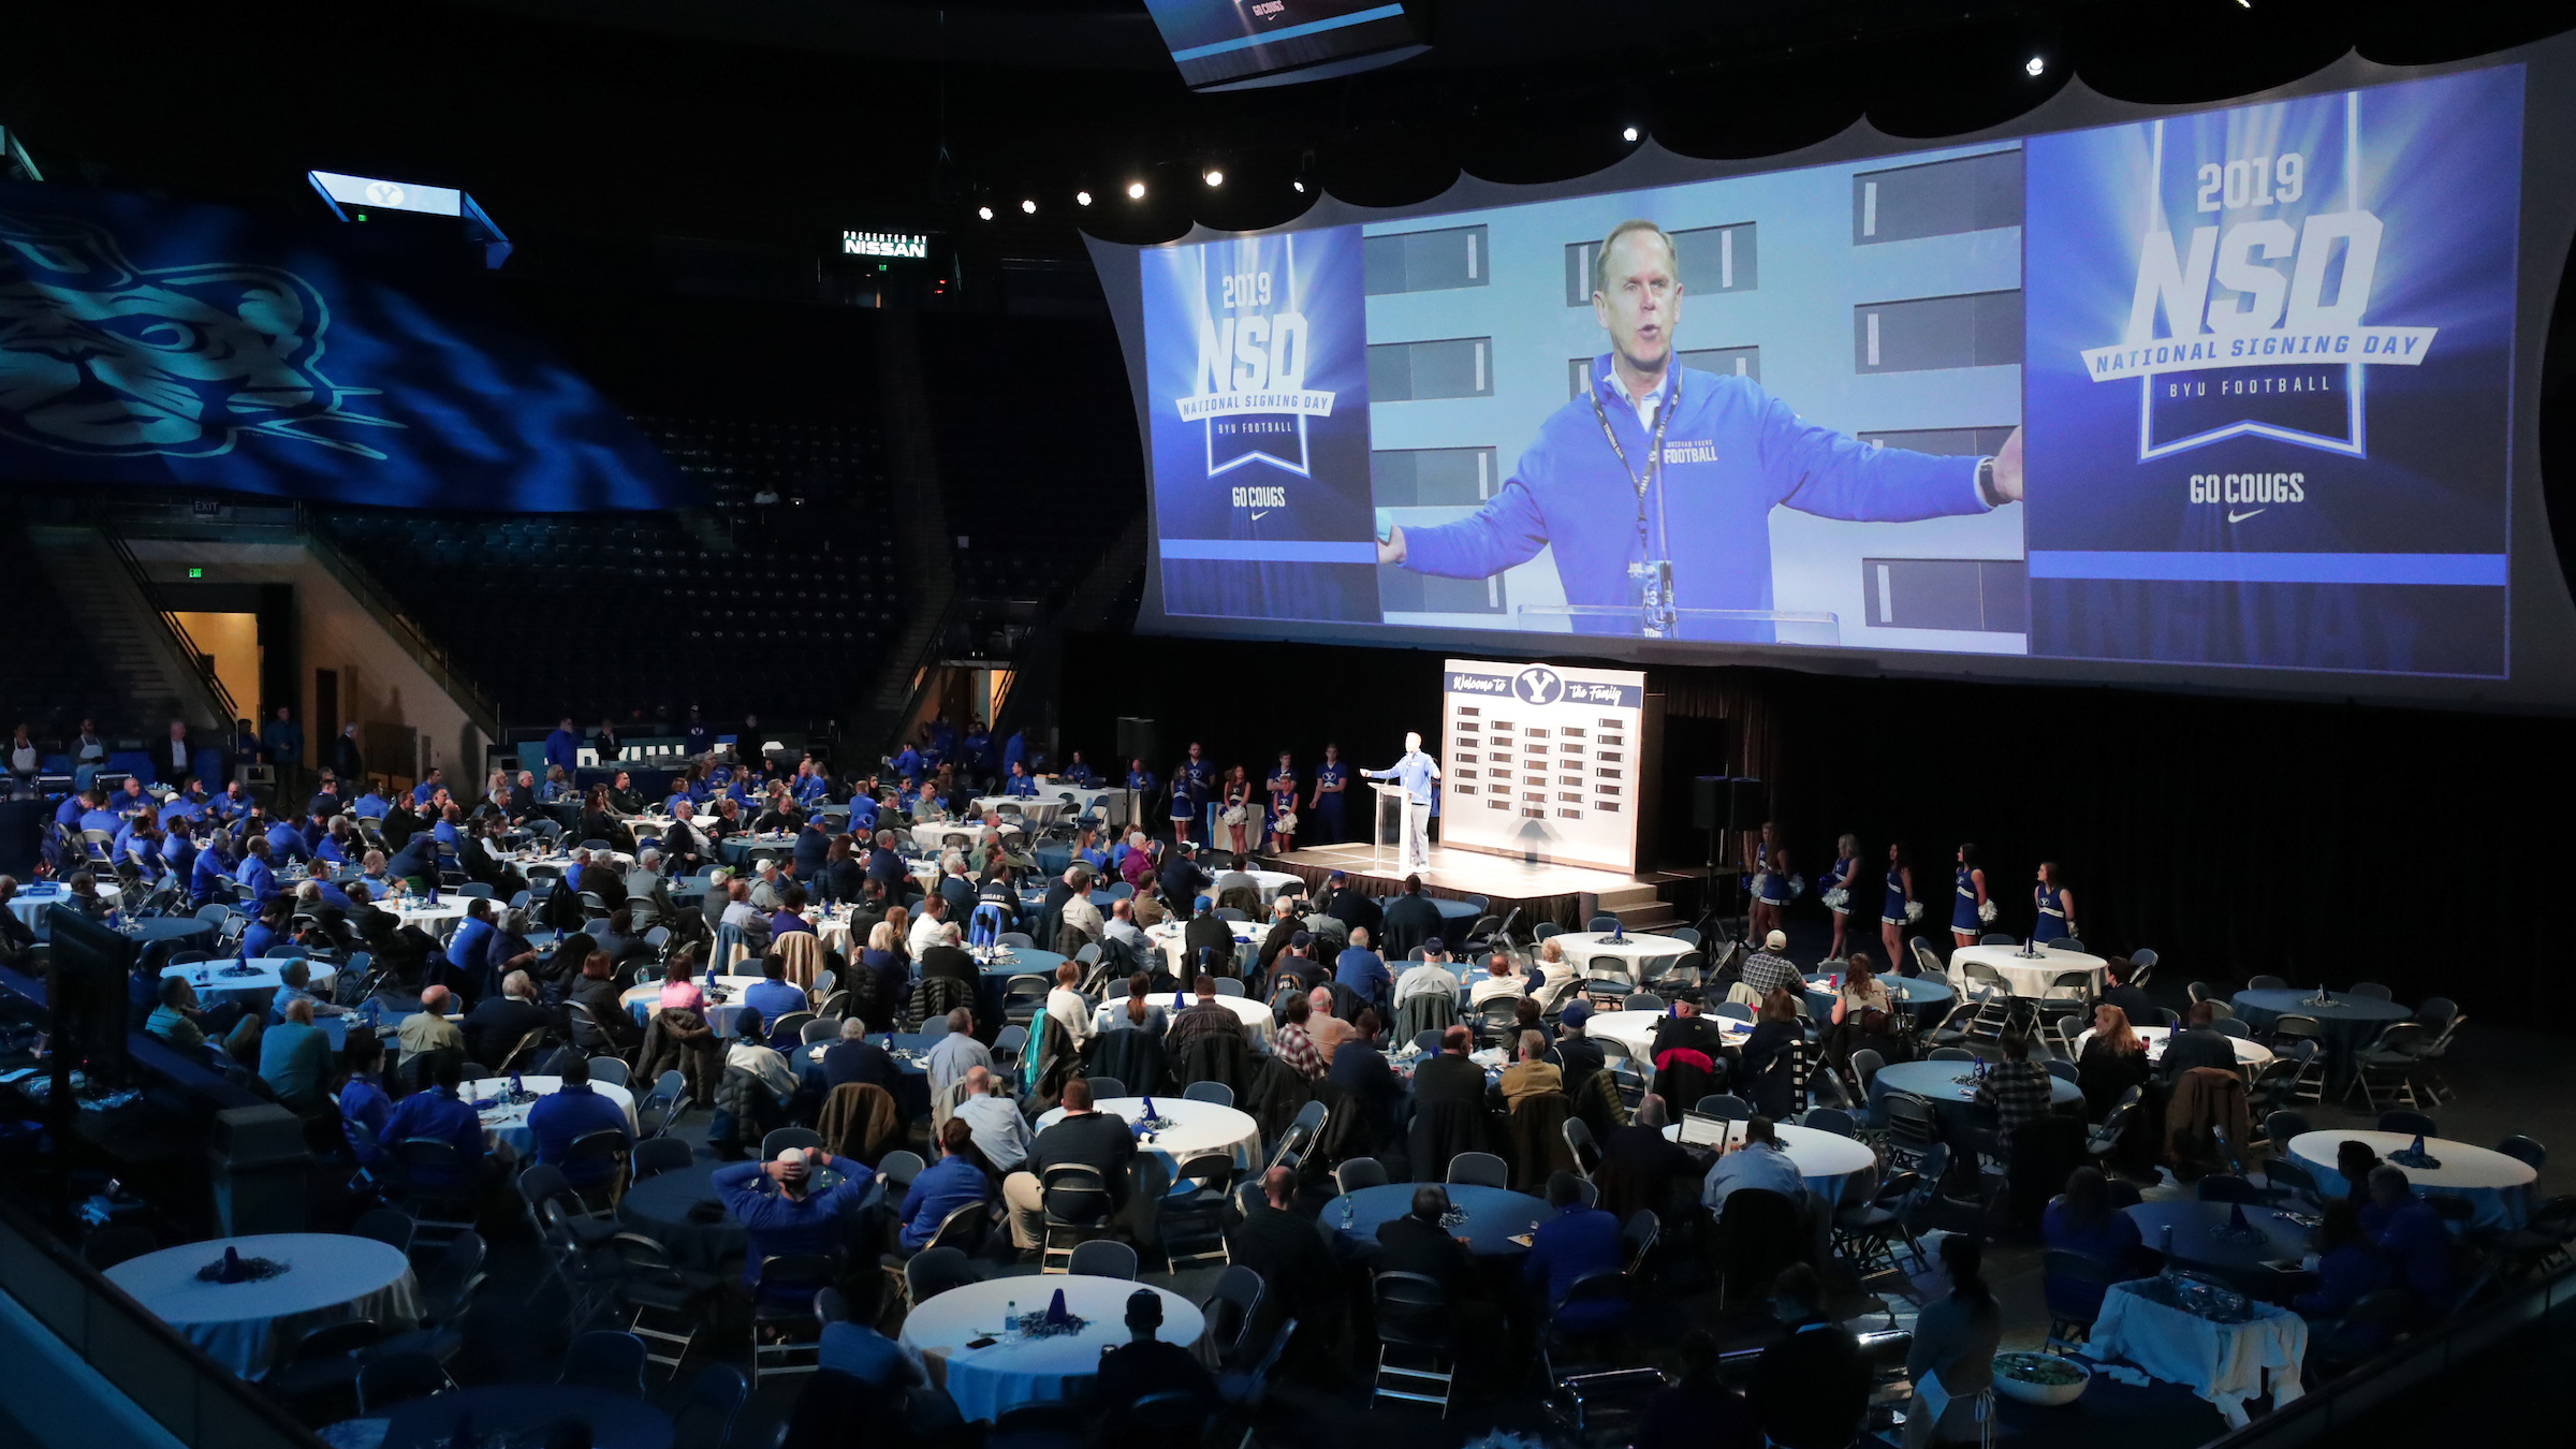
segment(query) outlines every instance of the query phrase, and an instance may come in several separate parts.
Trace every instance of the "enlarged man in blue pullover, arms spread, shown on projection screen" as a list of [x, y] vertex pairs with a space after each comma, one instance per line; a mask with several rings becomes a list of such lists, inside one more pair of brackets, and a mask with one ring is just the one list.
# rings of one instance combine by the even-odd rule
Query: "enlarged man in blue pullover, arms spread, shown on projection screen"
[[[1767, 642], [1759, 619], [1692, 611], [1772, 608], [1772, 505], [1901, 523], [2022, 498], [2020, 428], [1991, 459], [1873, 449], [1803, 423], [1752, 379], [1674, 366], [1682, 278], [1654, 222], [1620, 222], [1602, 242], [1592, 315], [1610, 353], [1592, 364], [1587, 394], [1538, 425], [1484, 508], [1394, 529], [1378, 541], [1381, 565], [1492, 578], [1553, 547], [1566, 603], [1602, 608], [1577, 614], [1577, 632]], [[1680, 614], [1659, 616], [1659, 593]]]

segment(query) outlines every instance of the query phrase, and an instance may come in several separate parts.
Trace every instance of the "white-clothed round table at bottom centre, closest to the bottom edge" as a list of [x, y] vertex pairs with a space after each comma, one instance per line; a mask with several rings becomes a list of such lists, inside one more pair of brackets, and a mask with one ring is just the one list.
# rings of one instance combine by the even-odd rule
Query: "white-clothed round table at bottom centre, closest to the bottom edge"
[[[1002, 1315], [1018, 1302], [1018, 1312], [1043, 1312], [1054, 1294], [1064, 1294], [1064, 1307], [1082, 1318], [1079, 1333], [1059, 1338], [1018, 1338], [1002, 1330]], [[1198, 1343], [1206, 1330], [1198, 1305], [1170, 1292], [1146, 1289], [1128, 1279], [1095, 1279], [1090, 1274], [1010, 1276], [981, 1284], [953, 1287], [904, 1315], [899, 1343], [904, 1354], [920, 1359], [935, 1387], [966, 1418], [999, 1418], [1028, 1403], [1066, 1403], [1090, 1397], [1092, 1377], [1100, 1374], [1100, 1351], [1126, 1343], [1126, 1299], [1136, 1292], [1162, 1294], [1164, 1343]], [[984, 1348], [969, 1348], [976, 1338], [999, 1338]]]

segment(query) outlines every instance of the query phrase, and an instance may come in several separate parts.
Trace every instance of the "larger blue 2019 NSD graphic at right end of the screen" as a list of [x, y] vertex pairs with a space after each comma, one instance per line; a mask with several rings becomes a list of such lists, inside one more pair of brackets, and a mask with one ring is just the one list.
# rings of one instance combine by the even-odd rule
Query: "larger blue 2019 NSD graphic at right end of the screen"
[[2506, 673], [2522, 77], [2027, 142], [2032, 652]]

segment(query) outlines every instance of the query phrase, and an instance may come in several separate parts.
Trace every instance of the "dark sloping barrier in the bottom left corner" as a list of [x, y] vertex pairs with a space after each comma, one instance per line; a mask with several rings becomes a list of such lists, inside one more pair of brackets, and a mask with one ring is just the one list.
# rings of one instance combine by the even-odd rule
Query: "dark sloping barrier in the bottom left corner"
[[191, 1449], [322, 1446], [283, 1408], [180, 1338], [10, 1201], [0, 1201], [0, 1292]]

